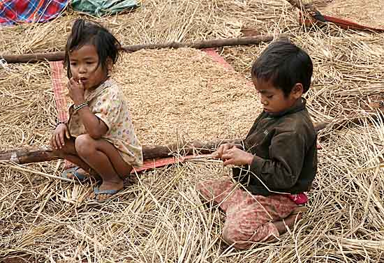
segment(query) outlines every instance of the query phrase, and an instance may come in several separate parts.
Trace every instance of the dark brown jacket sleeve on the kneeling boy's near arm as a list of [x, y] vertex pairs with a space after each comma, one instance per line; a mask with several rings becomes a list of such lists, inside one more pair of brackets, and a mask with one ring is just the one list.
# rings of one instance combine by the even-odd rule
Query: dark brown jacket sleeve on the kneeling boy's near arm
[[250, 170], [268, 188], [291, 188], [302, 171], [305, 152], [304, 135], [294, 131], [283, 132], [272, 138], [269, 159], [254, 156]]

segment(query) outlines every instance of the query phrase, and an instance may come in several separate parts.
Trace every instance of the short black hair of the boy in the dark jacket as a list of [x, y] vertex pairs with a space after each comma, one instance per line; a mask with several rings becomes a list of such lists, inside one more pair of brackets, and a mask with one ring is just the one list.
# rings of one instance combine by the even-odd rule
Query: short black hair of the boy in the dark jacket
[[272, 81], [276, 89], [288, 96], [296, 83], [301, 83], [303, 93], [311, 86], [313, 64], [311, 58], [300, 47], [289, 40], [270, 44], [252, 66], [252, 77]]

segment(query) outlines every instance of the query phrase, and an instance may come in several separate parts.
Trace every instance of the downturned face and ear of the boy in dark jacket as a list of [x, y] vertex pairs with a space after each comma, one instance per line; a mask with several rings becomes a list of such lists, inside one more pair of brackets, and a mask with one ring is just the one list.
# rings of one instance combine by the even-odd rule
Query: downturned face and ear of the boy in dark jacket
[[301, 83], [295, 84], [288, 96], [284, 96], [283, 90], [276, 89], [271, 81], [252, 77], [252, 82], [256, 87], [256, 91], [260, 93], [260, 102], [265, 112], [277, 113], [288, 110], [302, 97], [303, 87]]

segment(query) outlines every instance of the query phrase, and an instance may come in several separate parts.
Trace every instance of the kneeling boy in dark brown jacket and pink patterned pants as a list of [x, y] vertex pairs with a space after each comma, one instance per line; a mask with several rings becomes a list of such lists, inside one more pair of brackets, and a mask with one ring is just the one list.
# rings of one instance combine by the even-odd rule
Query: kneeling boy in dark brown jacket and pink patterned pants
[[[309, 90], [312, 61], [286, 41], [269, 45], [253, 63], [252, 80], [263, 112], [243, 146], [223, 144], [216, 156], [232, 169], [229, 178], [199, 183], [206, 200], [226, 212], [223, 239], [237, 249], [249, 248], [286, 232], [295, 224], [298, 204], [316, 174], [316, 131], [302, 94]], [[300, 218], [300, 216], [298, 216]]]

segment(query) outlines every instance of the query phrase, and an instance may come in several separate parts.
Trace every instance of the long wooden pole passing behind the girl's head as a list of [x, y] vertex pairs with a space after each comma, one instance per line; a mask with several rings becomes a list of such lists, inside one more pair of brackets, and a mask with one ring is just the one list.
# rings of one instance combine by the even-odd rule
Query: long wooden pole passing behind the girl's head
[[[163, 43], [163, 44], [149, 44], [149, 45], [128, 45], [121, 47], [125, 52], [135, 52], [138, 50], [156, 50], [160, 48], [180, 48], [180, 47], [193, 47], [196, 49], [225, 47], [236, 45], [257, 45], [263, 42], [270, 42], [274, 38], [292, 37], [292, 34], [280, 35], [266, 35], [266, 36], [252, 36], [247, 38], [228, 38], [228, 39], [214, 39], [206, 41], [198, 41], [193, 43]], [[5, 59], [7, 63], [36, 63], [38, 61], [61, 61], [64, 59], [64, 52], [48, 52], [48, 53], [35, 53], [35, 54], [17, 54], [17, 55], [0, 55], [0, 59]]]

